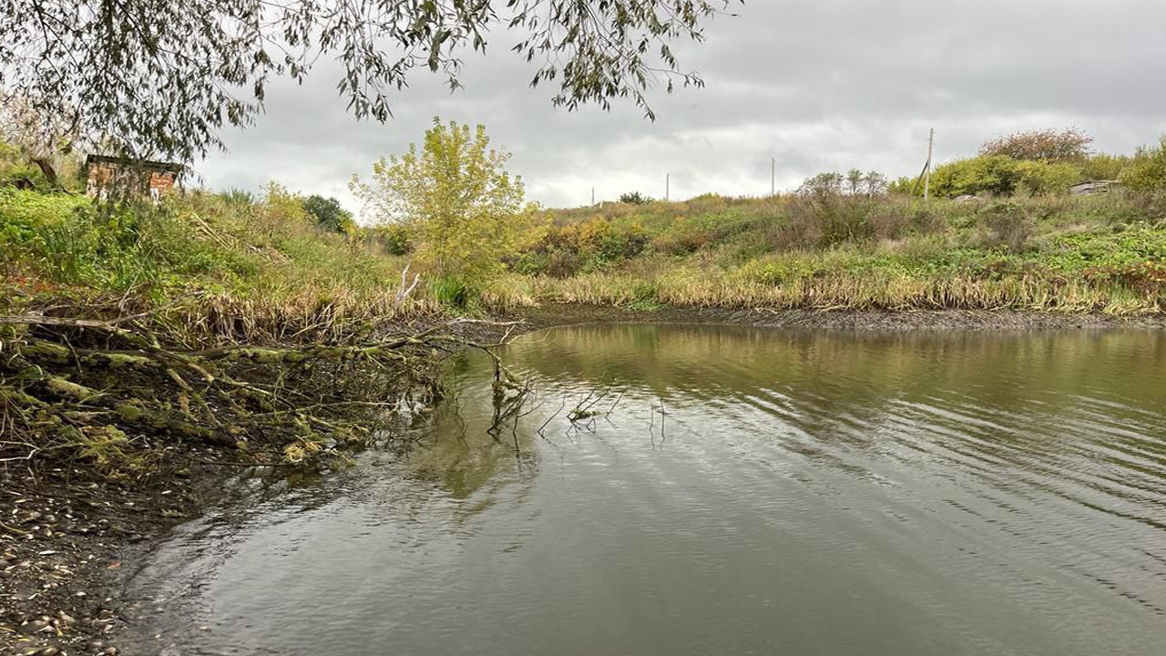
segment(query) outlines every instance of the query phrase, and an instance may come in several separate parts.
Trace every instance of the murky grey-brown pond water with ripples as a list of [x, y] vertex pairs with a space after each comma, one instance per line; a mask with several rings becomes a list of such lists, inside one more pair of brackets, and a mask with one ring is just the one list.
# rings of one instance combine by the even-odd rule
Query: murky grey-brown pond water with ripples
[[577, 327], [505, 358], [536, 396], [493, 435], [466, 355], [412, 454], [182, 526], [133, 581], [143, 652], [1166, 654], [1163, 333]]

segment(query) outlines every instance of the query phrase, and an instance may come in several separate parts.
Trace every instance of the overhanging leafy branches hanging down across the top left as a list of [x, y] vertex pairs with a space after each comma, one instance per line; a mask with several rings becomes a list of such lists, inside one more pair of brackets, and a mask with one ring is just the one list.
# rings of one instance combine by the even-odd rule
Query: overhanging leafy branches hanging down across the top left
[[414, 70], [457, 88], [466, 55], [505, 35], [534, 84], [557, 84], [555, 105], [631, 97], [651, 116], [653, 81], [702, 83], [672, 44], [739, 1], [7, 0], [0, 84], [127, 155], [190, 161], [254, 123], [272, 78], [332, 60], [357, 118], [386, 120]]

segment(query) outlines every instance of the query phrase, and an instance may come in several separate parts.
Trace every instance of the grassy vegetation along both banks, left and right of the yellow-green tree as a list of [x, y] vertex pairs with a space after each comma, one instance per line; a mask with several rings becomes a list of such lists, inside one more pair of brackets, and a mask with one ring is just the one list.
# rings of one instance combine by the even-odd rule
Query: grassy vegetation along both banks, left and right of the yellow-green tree
[[1122, 195], [979, 203], [724, 198], [549, 211], [512, 273], [395, 303], [407, 256], [314, 225], [296, 196], [195, 193], [161, 209], [0, 190], [0, 298], [183, 301], [217, 334], [279, 335], [441, 307], [1166, 308], [1166, 219]]

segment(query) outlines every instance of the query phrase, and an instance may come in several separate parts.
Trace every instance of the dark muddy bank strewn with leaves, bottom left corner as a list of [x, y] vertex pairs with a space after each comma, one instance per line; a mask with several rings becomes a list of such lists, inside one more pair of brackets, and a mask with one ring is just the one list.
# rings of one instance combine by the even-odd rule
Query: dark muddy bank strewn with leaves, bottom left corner
[[142, 479], [78, 463], [0, 470], [0, 654], [118, 654], [122, 563], [195, 517], [231, 467], [219, 448], [167, 447]]

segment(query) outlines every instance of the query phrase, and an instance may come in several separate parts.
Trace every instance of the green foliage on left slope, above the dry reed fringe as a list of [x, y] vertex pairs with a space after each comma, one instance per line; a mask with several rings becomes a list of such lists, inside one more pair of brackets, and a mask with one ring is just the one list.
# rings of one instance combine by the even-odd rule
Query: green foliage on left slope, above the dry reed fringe
[[0, 284], [161, 298], [206, 292], [302, 309], [391, 296], [403, 266], [359, 237], [321, 231], [279, 186], [255, 203], [191, 193], [160, 208], [0, 189]]

